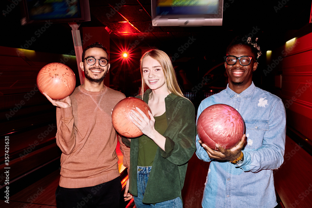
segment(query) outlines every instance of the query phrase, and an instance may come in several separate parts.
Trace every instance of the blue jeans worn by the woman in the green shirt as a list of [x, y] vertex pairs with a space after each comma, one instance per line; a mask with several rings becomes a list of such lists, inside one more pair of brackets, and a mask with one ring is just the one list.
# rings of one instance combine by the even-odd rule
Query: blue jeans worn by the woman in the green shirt
[[137, 177], [138, 196], [137, 197], [133, 196], [135, 206], [137, 208], [182, 208], [183, 204], [180, 197], [168, 201], [159, 202], [156, 203], [155, 205], [145, 204], [142, 202], [151, 169], [152, 166], [149, 167], [138, 166], [138, 177]]

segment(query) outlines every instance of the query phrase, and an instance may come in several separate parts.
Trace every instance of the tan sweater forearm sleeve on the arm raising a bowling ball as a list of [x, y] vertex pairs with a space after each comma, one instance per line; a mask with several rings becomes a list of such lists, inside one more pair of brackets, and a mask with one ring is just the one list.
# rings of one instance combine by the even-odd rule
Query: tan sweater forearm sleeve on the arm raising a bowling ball
[[73, 107], [56, 108], [56, 125], [56, 144], [64, 154], [69, 155], [76, 145]]

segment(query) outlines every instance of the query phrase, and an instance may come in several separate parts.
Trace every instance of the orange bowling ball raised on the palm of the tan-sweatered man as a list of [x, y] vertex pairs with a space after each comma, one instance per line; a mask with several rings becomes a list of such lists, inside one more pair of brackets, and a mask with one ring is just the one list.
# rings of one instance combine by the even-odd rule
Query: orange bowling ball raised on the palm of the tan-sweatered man
[[54, 100], [71, 95], [76, 87], [74, 72], [62, 63], [50, 63], [42, 67], [37, 75], [37, 86]]

